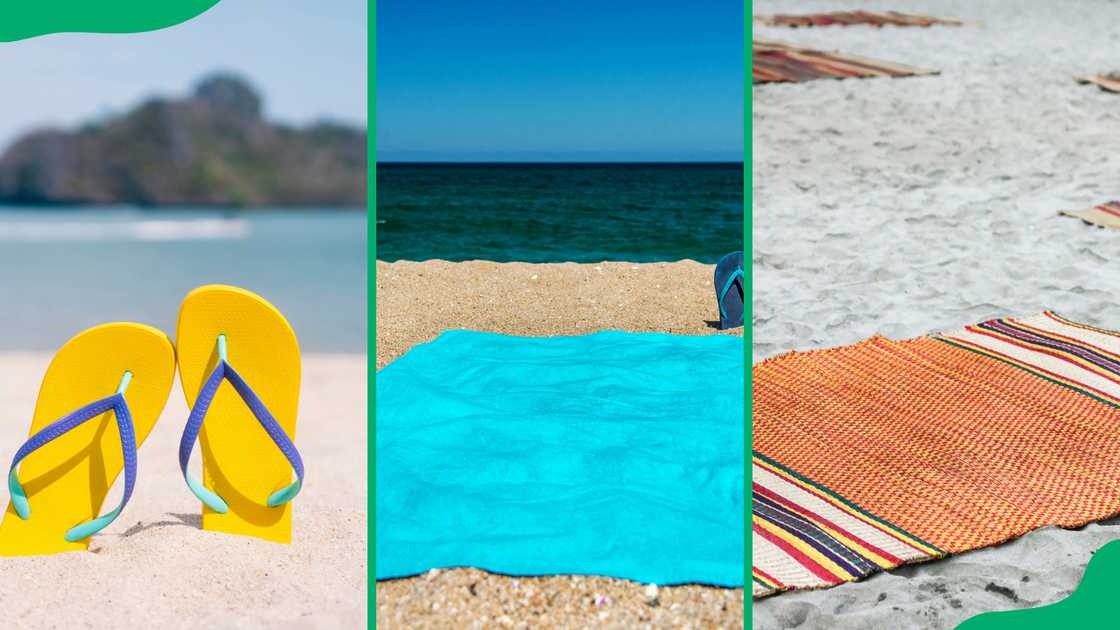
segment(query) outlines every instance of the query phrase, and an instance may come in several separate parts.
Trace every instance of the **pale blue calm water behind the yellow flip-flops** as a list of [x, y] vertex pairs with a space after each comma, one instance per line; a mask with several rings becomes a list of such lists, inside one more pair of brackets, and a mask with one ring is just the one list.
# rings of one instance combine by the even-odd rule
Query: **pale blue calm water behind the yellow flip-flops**
[[230, 284], [288, 318], [305, 352], [366, 348], [366, 212], [0, 207], [0, 351], [54, 351], [105, 322], [172, 339], [190, 289]]

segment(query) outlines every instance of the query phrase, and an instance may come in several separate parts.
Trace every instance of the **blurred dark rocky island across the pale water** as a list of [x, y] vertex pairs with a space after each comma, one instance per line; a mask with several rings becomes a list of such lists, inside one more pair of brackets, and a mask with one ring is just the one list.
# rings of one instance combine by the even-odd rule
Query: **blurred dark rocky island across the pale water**
[[366, 131], [270, 122], [243, 78], [215, 74], [75, 130], [44, 129], [0, 154], [0, 204], [366, 205]]

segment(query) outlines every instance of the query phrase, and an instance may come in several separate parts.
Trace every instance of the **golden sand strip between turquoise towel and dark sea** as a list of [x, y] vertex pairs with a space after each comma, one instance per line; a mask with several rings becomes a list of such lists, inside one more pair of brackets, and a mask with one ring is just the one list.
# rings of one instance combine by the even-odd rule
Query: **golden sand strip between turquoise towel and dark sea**
[[452, 328], [516, 335], [717, 331], [713, 265], [377, 261], [377, 369]]

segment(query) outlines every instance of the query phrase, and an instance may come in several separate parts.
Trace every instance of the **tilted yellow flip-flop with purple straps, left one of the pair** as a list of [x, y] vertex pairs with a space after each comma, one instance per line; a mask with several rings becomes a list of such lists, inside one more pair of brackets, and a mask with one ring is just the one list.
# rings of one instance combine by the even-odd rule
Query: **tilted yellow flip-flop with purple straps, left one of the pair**
[[[28, 441], [12, 457], [0, 556], [88, 548], [90, 536], [128, 503], [137, 448], [174, 380], [175, 349], [151, 326], [104, 324], [66, 342], [43, 378]], [[122, 469], [121, 502], [99, 517]]]

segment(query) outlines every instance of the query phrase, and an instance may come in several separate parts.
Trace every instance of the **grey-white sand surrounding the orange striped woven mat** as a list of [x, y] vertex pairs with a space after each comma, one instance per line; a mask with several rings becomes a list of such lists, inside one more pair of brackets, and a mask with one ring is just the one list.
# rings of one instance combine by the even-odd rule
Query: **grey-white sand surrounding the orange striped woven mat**
[[[755, 26], [942, 74], [753, 89], [754, 360], [1043, 308], [1120, 328], [1120, 232], [1057, 215], [1120, 198], [1120, 95], [1072, 78], [1120, 70], [1120, 3], [757, 0], [754, 12], [856, 8], [983, 26]], [[756, 602], [754, 626], [951, 628], [1061, 599], [1118, 536], [1039, 530]]]

